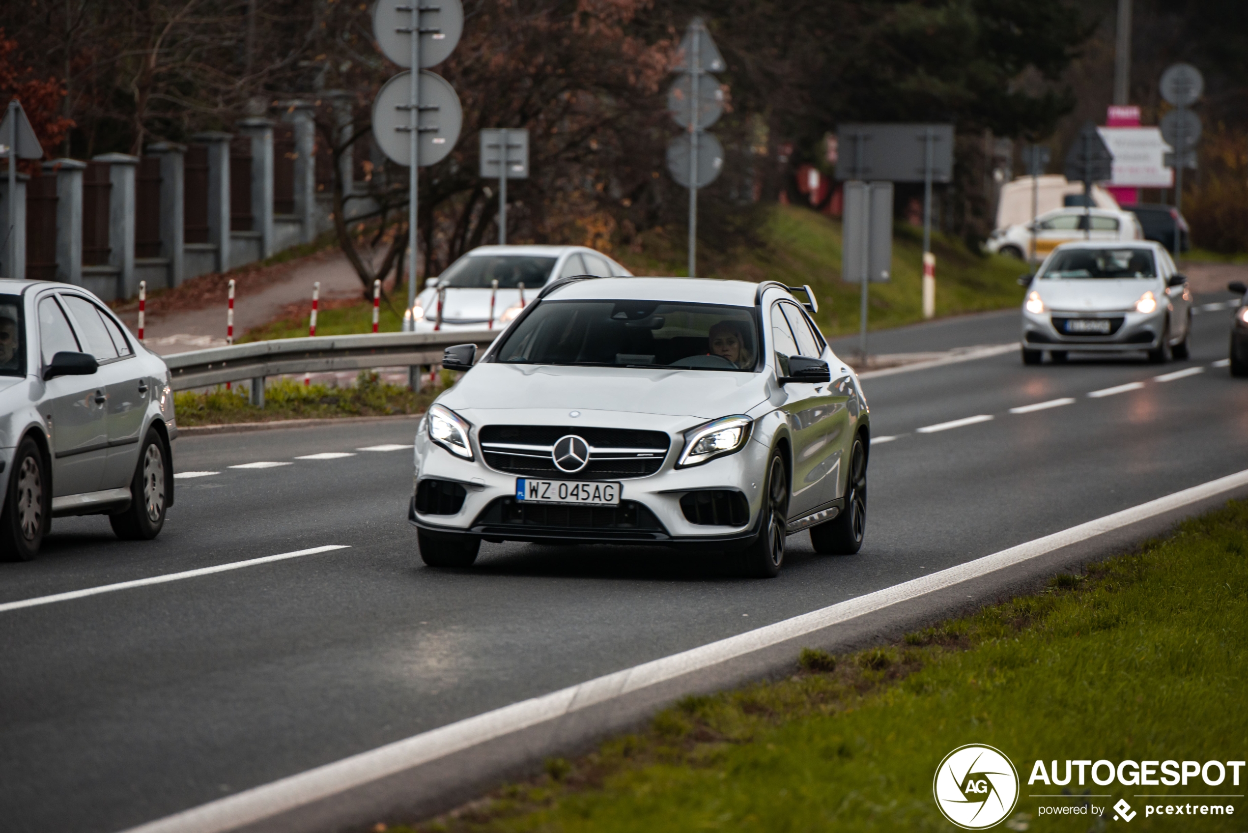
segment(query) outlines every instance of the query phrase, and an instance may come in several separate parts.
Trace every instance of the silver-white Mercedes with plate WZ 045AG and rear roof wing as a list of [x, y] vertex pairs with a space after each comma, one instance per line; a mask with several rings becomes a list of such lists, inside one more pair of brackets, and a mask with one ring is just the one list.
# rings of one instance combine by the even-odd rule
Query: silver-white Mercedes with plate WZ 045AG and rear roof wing
[[[655, 543], [775, 576], [785, 537], [854, 553], [870, 415], [852, 370], [785, 287], [565, 278], [437, 398], [416, 437], [421, 556], [466, 567], [482, 541]], [[475, 361], [474, 361], [475, 360]]]

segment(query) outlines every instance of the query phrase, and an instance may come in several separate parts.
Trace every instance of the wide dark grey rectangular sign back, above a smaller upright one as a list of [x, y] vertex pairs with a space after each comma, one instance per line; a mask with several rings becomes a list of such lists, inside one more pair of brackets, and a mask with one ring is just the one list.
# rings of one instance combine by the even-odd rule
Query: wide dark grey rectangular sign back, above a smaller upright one
[[953, 179], [953, 125], [841, 125], [836, 179], [922, 182], [931, 144], [932, 182]]

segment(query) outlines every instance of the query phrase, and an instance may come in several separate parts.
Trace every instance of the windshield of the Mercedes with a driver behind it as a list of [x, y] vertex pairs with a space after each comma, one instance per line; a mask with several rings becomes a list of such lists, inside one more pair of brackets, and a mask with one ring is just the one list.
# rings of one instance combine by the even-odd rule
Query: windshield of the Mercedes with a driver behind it
[[498, 350], [522, 365], [753, 371], [754, 307], [660, 301], [542, 301]]

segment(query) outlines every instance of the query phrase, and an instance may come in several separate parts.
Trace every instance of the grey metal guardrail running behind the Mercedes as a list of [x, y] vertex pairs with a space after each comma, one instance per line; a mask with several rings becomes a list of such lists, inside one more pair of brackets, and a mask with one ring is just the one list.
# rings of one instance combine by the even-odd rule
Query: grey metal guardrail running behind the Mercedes
[[175, 391], [252, 380], [252, 401], [263, 405], [266, 376], [367, 367], [437, 365], [453, 345], [487, 347], [500, 330], [378, 332], [353, 336], [273, 338], [162, 356]]

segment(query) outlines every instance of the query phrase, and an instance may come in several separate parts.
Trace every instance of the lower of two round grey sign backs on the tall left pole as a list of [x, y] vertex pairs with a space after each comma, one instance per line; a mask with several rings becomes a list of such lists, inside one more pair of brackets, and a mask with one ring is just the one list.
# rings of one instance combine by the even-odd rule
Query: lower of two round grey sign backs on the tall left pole
[[[412, 164], [412, 72], [399, 72], [373, 101], [373, 139], [382, 152], [399, 165]], [[441, 75], [421, 70], [421, 166], [437, 165], [459, 140], [463, 110], [454, 87]]]

